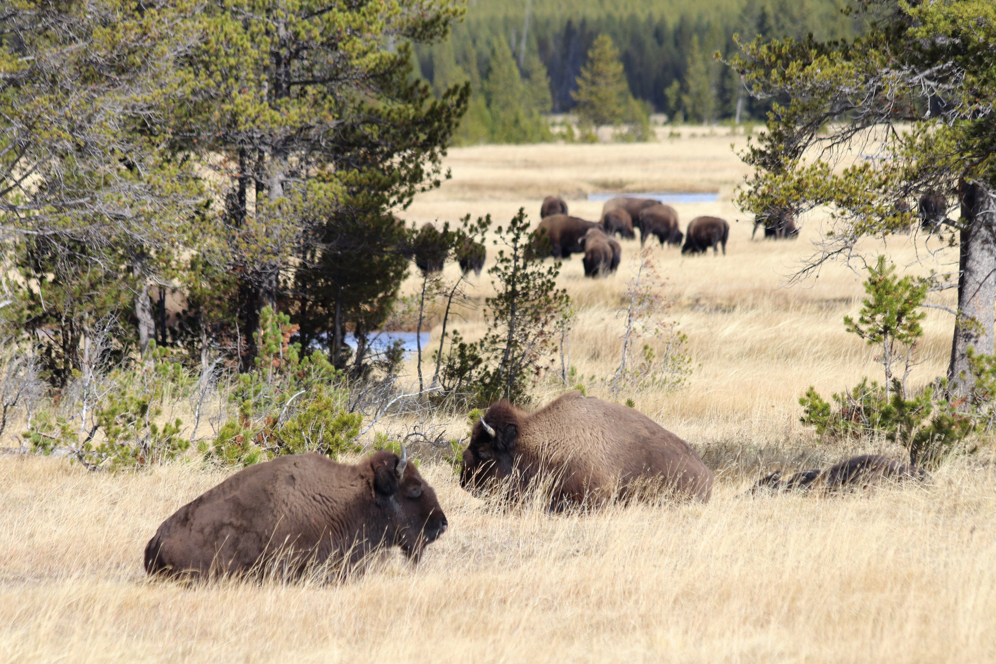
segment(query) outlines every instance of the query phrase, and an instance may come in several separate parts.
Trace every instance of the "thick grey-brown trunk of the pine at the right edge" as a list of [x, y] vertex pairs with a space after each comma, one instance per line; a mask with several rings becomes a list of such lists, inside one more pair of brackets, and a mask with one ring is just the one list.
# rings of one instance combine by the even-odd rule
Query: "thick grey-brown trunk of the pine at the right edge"
[[967, 395], [975, 383], [968, 370], [968, 348], [993, 353], [993, 307], [996, 306], [996, 188], [978, 182], [961, 186], [961, 255], [958, 316], [947, 370], [950, 391]]

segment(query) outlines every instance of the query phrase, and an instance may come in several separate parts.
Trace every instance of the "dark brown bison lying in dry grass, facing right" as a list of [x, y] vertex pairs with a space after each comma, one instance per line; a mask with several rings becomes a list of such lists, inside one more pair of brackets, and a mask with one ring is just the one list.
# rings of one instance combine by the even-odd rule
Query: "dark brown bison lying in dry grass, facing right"
[[278, 564], [300, 575], [311, 563], [356, 564], [388, 546], [417, 561], [445, 530], [435, 492], [403, 449], [357, 466], [314, 453], [280, 457], [177, 509], [145, 546], [145, 571], [206, 577]]

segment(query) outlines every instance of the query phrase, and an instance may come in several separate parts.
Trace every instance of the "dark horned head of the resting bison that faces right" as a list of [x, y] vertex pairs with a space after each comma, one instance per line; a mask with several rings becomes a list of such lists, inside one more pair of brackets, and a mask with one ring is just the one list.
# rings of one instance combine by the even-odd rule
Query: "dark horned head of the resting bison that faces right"
[[414, 464], [401, 447], [401, 456], [379, 452], [371, 457], [375, 502], [386, 515], [385, 543], [400, 546], [417, 561], [426, 544], [446, 531], [446, 515]]

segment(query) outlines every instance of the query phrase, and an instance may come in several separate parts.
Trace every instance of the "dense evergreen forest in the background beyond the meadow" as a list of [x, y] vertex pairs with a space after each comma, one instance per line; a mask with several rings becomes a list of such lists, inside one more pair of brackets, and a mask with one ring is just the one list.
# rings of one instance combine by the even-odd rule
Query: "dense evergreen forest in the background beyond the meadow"
[[[820, 40], [852, 36], [855, 21], [842, 0], [470, 0], [465, 19], [448, 40], [416, 48], [417, 67], [437, 93], [469, 81], [474, 93], [460, 138], [530, 140], [537, 131], [503, 137], [486, 125], [507, 95], [520, 96], [528, 115], [567, 113], [589, 49], [600, 34], [612, 37], [633, 97], [648, 111], [672, 119], [716, 122], [732, 118], [741, 98], [737, 76], [715, 62], [731, 56], [733, 37], [794, 36]], [[494, 62], [497, 60], [498, 62]], [[521, 84], [489, 78], [518, 67]], [[494, 89], [492, 93], [489, 88]], [[521, 90], [520, 90], [521, 88]], [[742, 117], [761, 118], [766, 107], [743, 95]]]

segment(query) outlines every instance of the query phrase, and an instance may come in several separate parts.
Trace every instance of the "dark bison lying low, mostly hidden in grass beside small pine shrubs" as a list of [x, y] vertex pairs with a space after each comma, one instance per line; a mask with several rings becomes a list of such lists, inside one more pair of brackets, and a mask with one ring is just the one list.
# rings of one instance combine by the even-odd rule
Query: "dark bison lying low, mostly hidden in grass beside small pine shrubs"
[[796, 473], [788, 480], [783, 480], [781, 473], [772, 473], [759, 480], [751, 493], [809, 491], [817, 488], [826, 492], [867, 489], [882, 480], [929, 482], [930, 476], [926, 471], [910, 464], [901, 464], [880, 455], [863, 455], [852, 457], [826, 471]]

